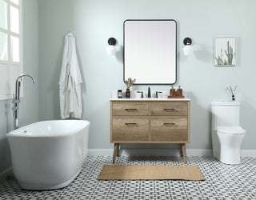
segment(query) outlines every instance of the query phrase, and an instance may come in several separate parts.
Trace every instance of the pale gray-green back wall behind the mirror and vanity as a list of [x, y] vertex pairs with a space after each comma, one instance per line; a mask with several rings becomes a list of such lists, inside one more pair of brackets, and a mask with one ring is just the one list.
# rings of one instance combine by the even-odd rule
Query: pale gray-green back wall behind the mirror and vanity
[[[71, 29], [77, 37], [84, 80], [83, 118], [91, 122], [89, 147], [112, 148], [110, 93], [126, 87], [122, 82], [122, 52], [118, 52], [117, 58], [108, 57], [107, 40], [117, 38], [118, 45], [122, 46], [122, 23], [126, 19], [171, 18], [178, 22], [178, 82], [175, 85], [181, 85], [191, 98], [191, 139], [187, 147], [211, 148], [210, 102], [230, 100], [226, 86], [238, 85], [237, 99], [242, 102], [241, 124], [247, 130], [242, 149], [255, 149], [256, 71], [255, 41], [252, 39], [256, 35], [255, 7], [254, 0], [39, 1], [39, 119], [59, 118], [58, 78], [62, 47], [65, 34]], [[237, 66], [213, 66], [214, 38], [220, 36], [237, 37]], [[190, 57], [182, 54], [182, 41], [186, 37], [193, 39], [197, 49]], [[134, 90], [146, 88], [133, 87]], [[168, 90], [170, 86], [151, 88]], [[172, 147], [165, 145], [161, 148]]]

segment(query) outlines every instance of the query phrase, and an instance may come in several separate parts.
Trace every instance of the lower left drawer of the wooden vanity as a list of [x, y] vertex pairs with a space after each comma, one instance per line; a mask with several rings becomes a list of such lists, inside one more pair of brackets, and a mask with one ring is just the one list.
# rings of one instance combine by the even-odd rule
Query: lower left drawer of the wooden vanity
[[112, 120], [112, 141], [149, 141], [149, 118]]

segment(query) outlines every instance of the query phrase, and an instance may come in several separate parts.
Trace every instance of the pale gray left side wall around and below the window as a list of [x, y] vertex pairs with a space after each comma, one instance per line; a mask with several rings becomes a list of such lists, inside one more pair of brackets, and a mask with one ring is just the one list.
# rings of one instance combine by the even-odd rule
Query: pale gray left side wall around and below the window
[[[38, 80], [38, 1], [23, 1], [24, 73]], [[20, 103], [19, 125], [38, 122], [38, 84], [24, 78], [24, 98]], [[0, 102], [0, 174], [11, 166], [6, 133], [13, 130], [10, 101]]]

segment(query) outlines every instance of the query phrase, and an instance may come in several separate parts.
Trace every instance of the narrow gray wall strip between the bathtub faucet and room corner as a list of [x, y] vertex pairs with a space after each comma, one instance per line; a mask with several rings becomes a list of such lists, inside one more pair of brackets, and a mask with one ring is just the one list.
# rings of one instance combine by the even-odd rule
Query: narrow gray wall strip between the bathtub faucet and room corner
[[36, 84], [24, 78], [24, 97], [20, 104], [21, 126], [38, 122], [38, 1], [23, 1], [24, 73], [34, 77]]

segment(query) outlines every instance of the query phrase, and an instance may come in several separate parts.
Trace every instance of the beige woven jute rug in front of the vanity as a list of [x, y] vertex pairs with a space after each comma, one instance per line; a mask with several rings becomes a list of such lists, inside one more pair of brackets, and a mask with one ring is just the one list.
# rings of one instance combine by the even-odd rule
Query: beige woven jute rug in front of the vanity
[[198, 166], [104, 166], [98, 180], [191, 180], [203, 181]]

